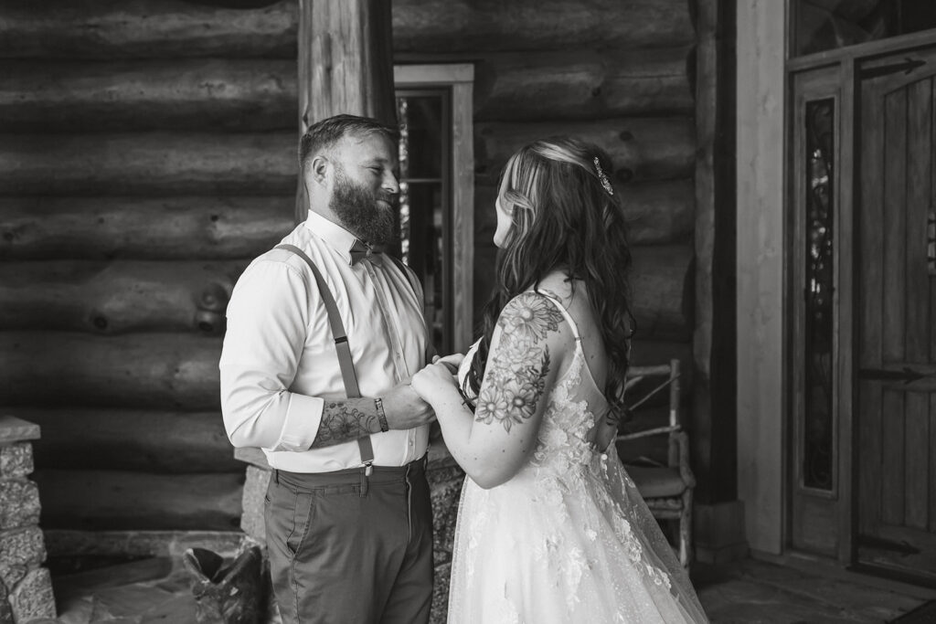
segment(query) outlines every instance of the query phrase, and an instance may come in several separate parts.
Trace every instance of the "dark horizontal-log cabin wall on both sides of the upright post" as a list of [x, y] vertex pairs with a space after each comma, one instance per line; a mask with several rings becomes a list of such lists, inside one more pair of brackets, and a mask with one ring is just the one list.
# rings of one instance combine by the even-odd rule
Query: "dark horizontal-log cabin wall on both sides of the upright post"
[[[220, 324], [292, 226], [297, 7], [223, 4], [0, 6], [0, 405], [43, 428], [47, 529], [237, 527]], [[475, 64], [475, 312], [500, 168], [578, 135], [633, 220], [634, 362], [693, 370], [692, 4], [394, 1], [395, 62]]]

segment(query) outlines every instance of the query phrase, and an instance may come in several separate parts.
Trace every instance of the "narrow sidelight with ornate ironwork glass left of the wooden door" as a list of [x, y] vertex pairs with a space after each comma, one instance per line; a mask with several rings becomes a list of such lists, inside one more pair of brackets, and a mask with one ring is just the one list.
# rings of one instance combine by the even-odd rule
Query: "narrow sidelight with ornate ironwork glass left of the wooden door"
[[[826, 65], [791, 81], [790, 212], [791, 461], [790, 531], [797, 550], [845, 559], [848, 401], [840, 374], [848, 364], [846, 297], [850, 215], [842, 206], [850, 172], [840, 154], [848, 98], [841, 68]], [[842, 418], [841, 414], [846, 417]]]

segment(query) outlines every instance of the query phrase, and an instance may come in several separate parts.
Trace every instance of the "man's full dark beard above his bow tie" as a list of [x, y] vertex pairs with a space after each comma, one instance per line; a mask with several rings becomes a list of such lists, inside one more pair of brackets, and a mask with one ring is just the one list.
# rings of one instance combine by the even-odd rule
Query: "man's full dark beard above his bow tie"
[[378, 199], [393, 205], [393, 196], [377, 196], [348, 180], [343, 170], [335, 171], [329, 208], [344, 229], [370, 245], [386, 245], [393, 237], [393, 209], [381, 207]]

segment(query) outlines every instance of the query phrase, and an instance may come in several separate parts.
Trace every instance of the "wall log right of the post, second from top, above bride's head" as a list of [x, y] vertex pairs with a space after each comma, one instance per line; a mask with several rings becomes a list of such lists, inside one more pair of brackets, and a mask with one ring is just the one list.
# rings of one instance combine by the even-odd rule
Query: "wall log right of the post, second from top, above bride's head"
[[474, 59], [475, 120], [597, 119], [695, 111], [689, 50], [528, 52]]

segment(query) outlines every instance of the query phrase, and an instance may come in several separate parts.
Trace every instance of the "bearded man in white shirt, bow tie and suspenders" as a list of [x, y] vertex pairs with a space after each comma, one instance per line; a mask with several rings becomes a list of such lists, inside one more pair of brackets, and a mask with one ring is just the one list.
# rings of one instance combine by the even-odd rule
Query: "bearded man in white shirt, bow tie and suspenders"
[[[351, 115], [309, 128], [308, 219], [251, 263], [227, 307], [222, 413], [231, 443], [262, 448], [273, 469], [265, 520], [284, 622], [429, 621], [433, 414], [409, 380], [431, 341], [417, 280], [379, 250], [400, 192], [396, 138]], [[339, 366], [345, 345], [359, 391]]]

